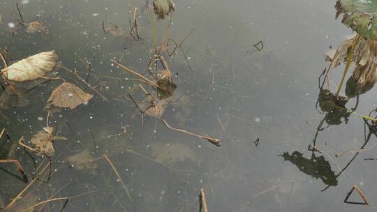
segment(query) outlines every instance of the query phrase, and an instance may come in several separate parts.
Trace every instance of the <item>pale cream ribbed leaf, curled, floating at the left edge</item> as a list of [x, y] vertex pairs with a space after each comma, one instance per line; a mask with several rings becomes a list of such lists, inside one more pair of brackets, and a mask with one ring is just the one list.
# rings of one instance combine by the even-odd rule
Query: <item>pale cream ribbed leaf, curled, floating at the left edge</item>
[[40, 52], [39, 54], [22, 59], [17, 63], [13, 63], [8, 68], [1, 70], [1, 72], [7, 79], [17, 82], [38, 79], [54, 68], [58, 58], [54, 50], [50, 52]]

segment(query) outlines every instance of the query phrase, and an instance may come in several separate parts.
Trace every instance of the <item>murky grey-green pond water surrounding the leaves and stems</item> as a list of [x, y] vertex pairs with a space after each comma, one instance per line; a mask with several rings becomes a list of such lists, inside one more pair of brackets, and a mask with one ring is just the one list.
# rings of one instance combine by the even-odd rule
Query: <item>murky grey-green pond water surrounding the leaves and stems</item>
[[[153, 8], [147, 10], [145, 1], [131, 4], [23, 0], [24, 22], [47, 28], [27, 33], [17, 24], [15, 1], [0, 2], [0, 47], [14, 61], [55, 50], [62, 65], [107, 99], [59, 65], [53, 73], [93, 95], [89, 103], [47, 116], [45, 103], [61, 84], [49, 80], [22, 94], [29, 104], [1, 107], [0, 130], [6, 128], [10, 141], [1, 138], [0, 159], [19, 160], [29, 180], [13, 163], [0, 164], [0, 207], [12, 203], [3, 211], [199, 211], [201, 188], [209, 211], [377, 209], [377, 161], [364, 160], [376, 158], [376, 150], [335, 156], [360, 149], [369, 133], [364, 120], [356, 114], [332, 120], [316, 107], [318, 77], [329, 66], [324, 52], [353, 33], [335, 20], [335, 1], [175, 2], [168, 37], [179, 43], [194, 30], [182, 50], [162, 53], [177, 85], [162, 119], [221, 138], [220, 147], [142, 116], [128, 97], [140, 81], [110, 59], [143, 73], [154, 55]], [[134, 6], [138, 41], [128, 34]], [[168, 17], [156, 21], [158, 43], [167, 24]], [[113, 36], [106, 27], [126, 33]], [[259, 41], [260, 51], [254, 47]], [[341, 68], [330, 74], [333, 89]], [[371, 89], [360, 96], [355, 112], [369, 114], [376, 94]], [[134, 96], [143, 97], [139, 91]], [[353, 98], [346, 107], [355, 104]], [[50, 159], [17, 143], [24, 136], [33, 146], [29, 141], [46, 119], [66, 137], [53, 143]], [[366, 147], [374, 140], [371, 135]], [[322, 153], [309, 151], [310, 144]], [[344, 203], [353, 185], [369, 206]], [[357, 192], [348, 201], [363, 202]]]

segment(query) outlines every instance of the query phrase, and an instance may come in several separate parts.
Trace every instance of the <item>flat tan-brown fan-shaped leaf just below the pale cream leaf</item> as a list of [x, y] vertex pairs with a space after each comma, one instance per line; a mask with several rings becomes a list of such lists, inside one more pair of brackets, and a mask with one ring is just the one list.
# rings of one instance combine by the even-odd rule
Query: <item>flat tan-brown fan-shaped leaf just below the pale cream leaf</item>
[[79, 105], [86, 104], [92, 97], [74, 84], [64, 82], [52, 91], [45, 109], [50, 109], [52, 106], [75, 109]]

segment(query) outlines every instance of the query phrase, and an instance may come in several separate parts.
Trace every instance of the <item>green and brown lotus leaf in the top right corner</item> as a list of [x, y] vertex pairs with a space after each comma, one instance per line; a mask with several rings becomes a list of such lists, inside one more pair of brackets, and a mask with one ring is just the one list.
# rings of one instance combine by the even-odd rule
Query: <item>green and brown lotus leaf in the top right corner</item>
[[343, 24], [364, 38], [377, 40], [377, 1], [338, 0], [337, 17], [343, 13]]

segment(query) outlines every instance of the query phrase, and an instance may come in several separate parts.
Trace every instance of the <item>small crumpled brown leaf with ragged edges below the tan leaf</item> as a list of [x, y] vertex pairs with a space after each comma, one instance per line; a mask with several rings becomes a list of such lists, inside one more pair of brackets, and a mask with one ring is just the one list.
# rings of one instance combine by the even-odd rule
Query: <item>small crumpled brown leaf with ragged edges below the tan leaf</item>
[[53, 131], [54, 128], [45, 127], [43, 130], [38, 131], [37, 134], [30, 139], [31, 144], [34, 144], [37, 151], [46, 153], [48, 156], [52, 156], [55, 153], [52, 142], [57, 140], [66, 140], [65, 137], [52, 136]]

